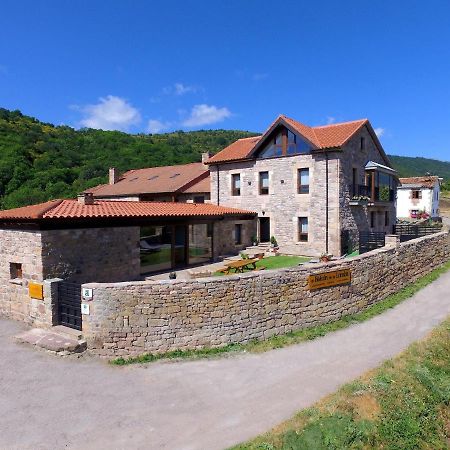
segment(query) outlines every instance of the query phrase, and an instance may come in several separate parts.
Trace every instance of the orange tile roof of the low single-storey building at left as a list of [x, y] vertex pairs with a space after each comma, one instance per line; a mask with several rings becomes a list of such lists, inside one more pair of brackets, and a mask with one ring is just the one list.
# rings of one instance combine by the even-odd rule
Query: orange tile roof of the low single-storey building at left
[[209, 203], [125, 202], [96, 200], [85, 205], [77, 200], [53, 200], [39, 205], [0, 211], [0, 221], [111, 218], [227, 217], [255, 215], [252, 211]]

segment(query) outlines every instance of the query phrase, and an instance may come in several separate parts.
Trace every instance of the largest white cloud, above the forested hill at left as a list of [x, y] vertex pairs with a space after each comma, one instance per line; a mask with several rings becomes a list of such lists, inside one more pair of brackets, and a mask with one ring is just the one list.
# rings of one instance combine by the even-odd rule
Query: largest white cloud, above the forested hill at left
[[81, 126], [88, 128], [128, 131], [132, 125], [141, 122], [139, 111], [124, 98], [114, 95], [100, 97], [94, 105], [76, 106], [75, 109], [84, 115]]

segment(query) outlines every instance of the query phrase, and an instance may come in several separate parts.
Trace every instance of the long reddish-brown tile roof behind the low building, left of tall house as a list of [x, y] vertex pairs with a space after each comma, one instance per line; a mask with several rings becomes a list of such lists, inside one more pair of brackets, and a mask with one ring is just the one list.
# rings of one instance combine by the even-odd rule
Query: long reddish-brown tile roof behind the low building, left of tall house
[[148, 167], [129, 170], [116, 184], [101, 184], [86, 192], [92, 192], [95, 197], [184, 192], [184, 188], [208, 177], [209, 170], [202, 163]]

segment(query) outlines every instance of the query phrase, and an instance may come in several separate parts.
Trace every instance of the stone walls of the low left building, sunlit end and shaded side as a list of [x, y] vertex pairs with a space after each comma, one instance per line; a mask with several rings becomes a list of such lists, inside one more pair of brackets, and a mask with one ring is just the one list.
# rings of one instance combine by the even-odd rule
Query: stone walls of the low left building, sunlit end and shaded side
[[[21, 274], [16, 264], [21, 265]], [[139, 228], [0, 230], [0, 315], [34, 324], [57, 322], [53, 278], [105, 282], [139, 276]], [[43, 285], [44, 299], [29, 284]]]

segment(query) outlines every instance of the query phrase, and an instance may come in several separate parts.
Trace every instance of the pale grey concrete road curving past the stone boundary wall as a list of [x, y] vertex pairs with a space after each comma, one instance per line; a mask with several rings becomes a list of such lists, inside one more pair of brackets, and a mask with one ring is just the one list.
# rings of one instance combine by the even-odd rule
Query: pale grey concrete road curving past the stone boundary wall
[[281, 350], [125, 368], [13, 341], [0, 320], [1, 449], [223, 449], [378, 366], [450, 314], [450, 273], [368, 322]]

